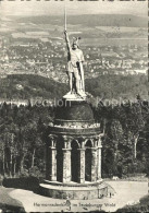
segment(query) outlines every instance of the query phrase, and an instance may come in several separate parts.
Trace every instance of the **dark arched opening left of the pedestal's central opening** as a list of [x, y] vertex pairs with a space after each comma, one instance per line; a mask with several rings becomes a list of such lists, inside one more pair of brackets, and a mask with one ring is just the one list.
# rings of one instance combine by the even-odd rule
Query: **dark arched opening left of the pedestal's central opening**
[[64, 142], [61, 138], [57, 141], [57, 180], [62, 182], [63, 179], [63, 151]]

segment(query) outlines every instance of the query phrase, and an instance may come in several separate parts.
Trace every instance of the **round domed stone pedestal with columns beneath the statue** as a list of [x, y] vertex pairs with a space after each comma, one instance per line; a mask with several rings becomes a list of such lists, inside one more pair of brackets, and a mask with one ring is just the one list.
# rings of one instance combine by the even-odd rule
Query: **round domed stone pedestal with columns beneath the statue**
[[[55, 109], [48, 127], [49, 176], [40, 185], [45, 196], [65, 199], [97, 199], [108, 193], [101, 179], [100, 123], [87, 102], [71, 100]], [[58, 181], [59, 180], [59, 181]]]

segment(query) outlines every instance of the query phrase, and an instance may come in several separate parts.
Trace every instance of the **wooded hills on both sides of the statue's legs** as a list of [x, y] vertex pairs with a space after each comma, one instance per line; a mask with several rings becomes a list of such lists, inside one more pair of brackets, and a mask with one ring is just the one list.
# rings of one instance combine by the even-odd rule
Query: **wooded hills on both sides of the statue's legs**
[[[39, 75], [16, 74], [0, 79], [1, 98], [61, 98], [69, 91], [69, 85], [54, 82]], [[86, 91], [95, 97], [129, 98], [137, 94], [148, 97], [148, 82], [146, 76], [102, 75], [86, 80]]]

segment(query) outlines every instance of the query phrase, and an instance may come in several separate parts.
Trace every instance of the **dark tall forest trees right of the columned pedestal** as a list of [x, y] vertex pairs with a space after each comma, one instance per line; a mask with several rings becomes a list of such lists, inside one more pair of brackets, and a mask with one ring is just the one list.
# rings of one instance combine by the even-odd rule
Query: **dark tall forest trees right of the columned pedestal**
[[149, 175], [149, 102], [137, 99], [121, 106], [95, 109], [102, 123], [102, 176]]

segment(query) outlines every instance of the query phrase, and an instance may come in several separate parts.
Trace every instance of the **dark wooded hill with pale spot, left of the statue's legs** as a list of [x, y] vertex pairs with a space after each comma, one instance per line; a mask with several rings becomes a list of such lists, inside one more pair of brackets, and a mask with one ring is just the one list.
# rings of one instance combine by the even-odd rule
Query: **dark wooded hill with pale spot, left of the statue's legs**
[[38, 75], [15, 74], [0, 79], [2, 98], [60, 98], [66, 91], [66, 85]]

